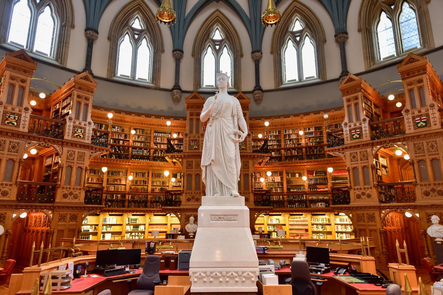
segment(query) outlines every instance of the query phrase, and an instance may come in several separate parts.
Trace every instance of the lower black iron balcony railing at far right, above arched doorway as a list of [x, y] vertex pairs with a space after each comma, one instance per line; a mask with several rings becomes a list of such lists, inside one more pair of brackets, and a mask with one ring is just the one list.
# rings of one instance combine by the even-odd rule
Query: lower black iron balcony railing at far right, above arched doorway
[[378, 200], [380, 203], [415, 203], [412, 181], [378, 183]]

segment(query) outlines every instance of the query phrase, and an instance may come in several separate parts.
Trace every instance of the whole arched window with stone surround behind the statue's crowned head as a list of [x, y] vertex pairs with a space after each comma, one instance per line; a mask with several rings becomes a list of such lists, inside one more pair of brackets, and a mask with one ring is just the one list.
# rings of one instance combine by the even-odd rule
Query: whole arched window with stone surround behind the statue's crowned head
[[241, 90], [241, 39], [235, 26], [216, 10], [204, 21], [195, 38], [194, 90], [216, 88], [216, 74], [220, 71], [230, 77], [229, 88]]

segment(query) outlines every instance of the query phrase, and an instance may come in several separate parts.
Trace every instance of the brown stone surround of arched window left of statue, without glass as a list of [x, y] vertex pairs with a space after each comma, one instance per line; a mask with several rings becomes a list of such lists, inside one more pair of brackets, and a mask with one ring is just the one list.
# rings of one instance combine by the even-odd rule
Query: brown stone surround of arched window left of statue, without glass
[[[123, 36], [129, 22], [135, 15], [140, 16], [140, 20], [146, 26], [148, 38], [152, 44], [152, 84], [160, 85], [160, 65], [161, 56], [164, 52], [163, 34], [160, 31], [159, 24], [155, 21], [155, 14], [151, 11], [144, 0], [132, 0], [117, 12], [111, 25], [109, 26], [109, 58], [107, 77], [112, 78], [117, 72], [118, 42]], [[135, 49], [134, 49], [135, 50]], [[133, 80], [133, 82], [136, 82]]]

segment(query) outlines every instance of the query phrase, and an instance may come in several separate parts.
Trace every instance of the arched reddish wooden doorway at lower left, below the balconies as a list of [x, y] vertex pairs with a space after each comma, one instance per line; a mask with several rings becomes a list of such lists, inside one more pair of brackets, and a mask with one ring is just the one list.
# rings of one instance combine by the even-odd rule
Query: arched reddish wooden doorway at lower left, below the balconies
[[[20, 268], [29, 266], [34, 242], [35, 250], [40, 249], [42, 241], [44, 248], [49, 246], [48, 239], [51, 230], [51, 220], [46, 214], [43, 212], [26, 212], [26, 216], [24, 216], [25, 212], [18, 212], [20, 215], [12, 223], [12, 232], [8, 240], [8, 259], [14, 259], [16, 267]], [[45, 256], [43, 255], [43, 257]], [[36, 264], [37, 261], [38, 255], [34, 255], [33, 264]]]

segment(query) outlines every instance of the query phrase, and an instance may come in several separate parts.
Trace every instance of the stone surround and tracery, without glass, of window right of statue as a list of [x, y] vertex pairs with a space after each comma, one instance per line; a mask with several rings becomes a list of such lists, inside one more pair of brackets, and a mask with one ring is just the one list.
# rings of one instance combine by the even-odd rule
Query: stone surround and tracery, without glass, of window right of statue
[[[303, 28], [294, 32], [300, 35], [297, 37], [293, 31], [290, 31], [295, 24], [295, 19], [299, 19], [303, 23]], [[284, 48], [288, 38], [296, 45], [297, 50], [301, 50], [305, 36], [309, 36], [315, 48], [315, 62], [316, 62], [316, 77], [314, 80], [323, 80], [326, 77], [326, 61], [324, 52], [324, 43], [326, 42], [325, 30], [318, 16], [311, 8], [301, 3], [299, 0], [294, 0], [289, 4], [288, 8], [283, 12], [282, 22], [275, 28], [272, 34], [271, 54], [274, 59], [274, 84], [276, 88], [284, 84], [292, 83], [285, 80], [284, 75]], [[298, 54], [298, 65], [302, 65], [301, 54]], [[303, 69], [298, 66], [297, 83], [303, 80], [307, 81], [312, 78], [303, 79]], [[302, 77], [302, 79], [300, 79]], [[292, 85], [292, 84], [291, 84]]]

